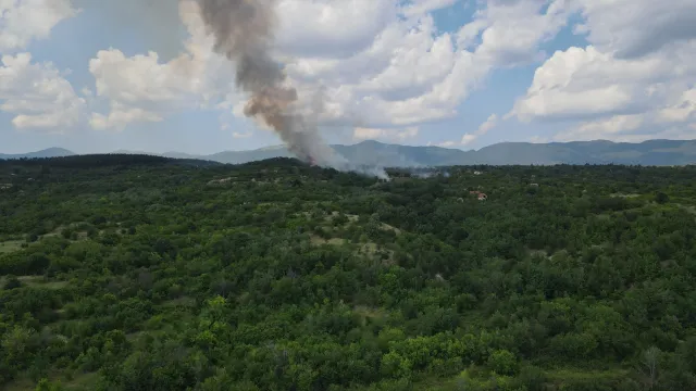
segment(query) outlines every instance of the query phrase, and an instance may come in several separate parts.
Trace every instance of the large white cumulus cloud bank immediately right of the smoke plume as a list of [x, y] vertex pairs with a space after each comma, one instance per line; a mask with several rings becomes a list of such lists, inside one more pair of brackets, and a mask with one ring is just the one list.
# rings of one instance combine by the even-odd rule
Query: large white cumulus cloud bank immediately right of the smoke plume
[[[348, 3], [355, 2], [336, 0], [326, 4], [341, 9]], [[567, 15], [562, 1], [554, 1], [547, 8], [536, 1], [492, 1], [457, 34], [439, 31], [427, 12], [455, 3], [423, 0], [395, 8], [393, 1], [373, 1], [373, 7], [380, 4], [385, 13], [365, 14], [365, 21], [356, 26], [382, 23], [372, 28], [378, 34], [365, 36], [366, 41], [360, 40], [364, 45], [355, 46], [360, 49], [349, 55], [327, 55], [331, 51], [312, 54], [286, 45], [282, 51], [293, 59], [288, 74], [307, 96], [321, 89], [326, 109], [321, 117], [324, 122], [384, 127], [438, 121], [455, 116], [458, 106], [482, 86], [494, 67], [537, 58], [539, 43], [563, 26]], [[350, 15], [347, 14], [348, 21]], [[282, 21], [290, 17], [281, 14]], [[304, 42], [318, 45], [324, 39], [314, 35], [313, 23], [307, 23], [307, 27], [304, 23], [281, 24], [306, 31], [286, 31], [283, 36], [302, 36]], [[341, 26], [334, 34], [352, 37], [350, 25]]]

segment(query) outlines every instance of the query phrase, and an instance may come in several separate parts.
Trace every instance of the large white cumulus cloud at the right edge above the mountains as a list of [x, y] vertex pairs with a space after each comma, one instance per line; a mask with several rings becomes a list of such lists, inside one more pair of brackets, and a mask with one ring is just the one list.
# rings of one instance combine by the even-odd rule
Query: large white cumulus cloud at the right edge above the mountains
[[[682, 137], [694, 118], [696, 3], [575, 0], [586, 48], [557, 51], [509, 116], [575, 122], [555, 139]], [[669, 128], [666, 128], [667, 124]]]

